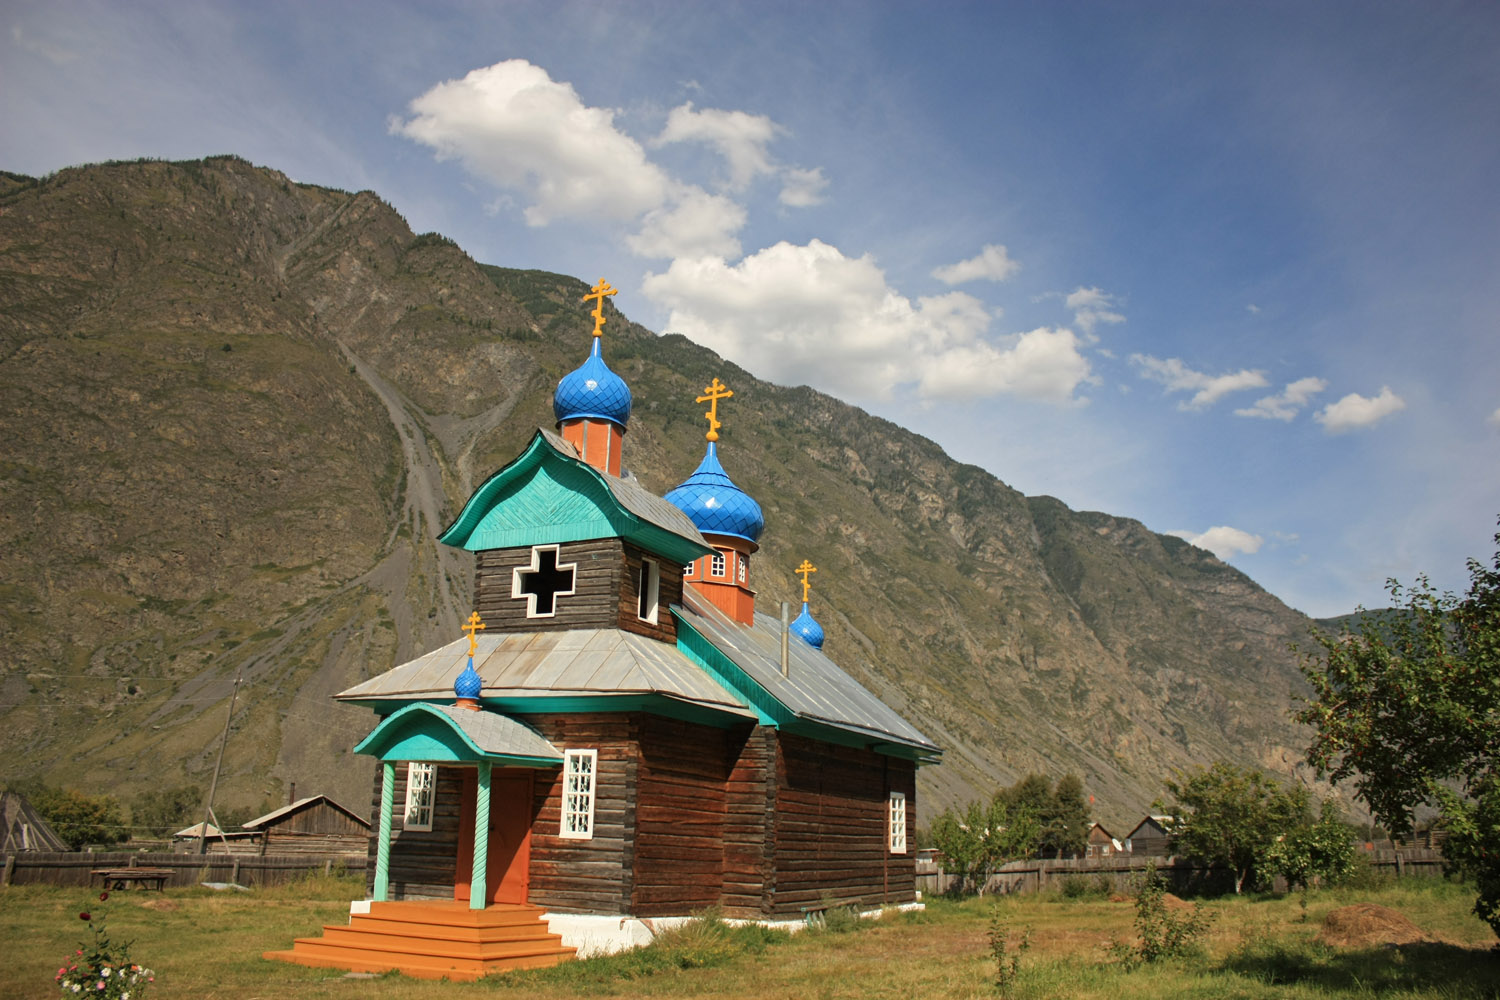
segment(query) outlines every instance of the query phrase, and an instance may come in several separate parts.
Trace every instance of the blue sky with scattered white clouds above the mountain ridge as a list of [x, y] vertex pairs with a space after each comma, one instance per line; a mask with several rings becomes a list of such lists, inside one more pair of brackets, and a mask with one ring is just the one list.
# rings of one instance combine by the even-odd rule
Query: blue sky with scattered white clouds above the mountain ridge
[[370, 187], [1312, 615], [1494, 552], [1492, 3], [9, 0], [0, 28], [0, 168]]

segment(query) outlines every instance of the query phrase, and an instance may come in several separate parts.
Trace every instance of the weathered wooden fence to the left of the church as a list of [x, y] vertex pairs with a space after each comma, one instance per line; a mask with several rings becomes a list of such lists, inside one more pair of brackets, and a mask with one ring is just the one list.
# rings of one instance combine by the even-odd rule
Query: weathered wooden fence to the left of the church
[[232, 882], [242, 886], [274, 886], [310, 873], [364, 871], [364, 858], [336, 855], [171, 855], [114, 852], [20, 852], [4, 855], [0, 885], [98, 886], [102, 868], [171, 868], [168, 886], [201, 882]]

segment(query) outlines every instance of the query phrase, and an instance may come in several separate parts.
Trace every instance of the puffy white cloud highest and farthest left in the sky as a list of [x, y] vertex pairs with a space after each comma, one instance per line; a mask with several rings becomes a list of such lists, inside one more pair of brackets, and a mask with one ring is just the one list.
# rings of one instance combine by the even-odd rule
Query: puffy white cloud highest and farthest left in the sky
[[528, 225], [562, 217], [630, 220], [666, 202], [670, 181], [615, 112], [586, 106], [572, 84], [513, 58], [432, 87], [390, 130], [458, 159], [530, 204]]

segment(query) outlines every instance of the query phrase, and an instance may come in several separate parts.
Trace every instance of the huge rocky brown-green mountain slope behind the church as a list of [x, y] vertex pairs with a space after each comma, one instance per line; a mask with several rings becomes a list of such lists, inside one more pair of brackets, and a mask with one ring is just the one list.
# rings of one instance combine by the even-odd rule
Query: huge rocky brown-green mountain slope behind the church
[[[234, 157], [4, 177], [0, 753], [96, 789], [206, 784], [243, 672], [220, 801], [363, 801], [370, 717], [328, 696], [458, 634], [472, 564], [434, 535], [550, 426], [586, 286]], [[702, 456], [693, 397], [735, 390], [722, 457], [766, 514], [759, 600], [819, 567], [828, 652], [948, 748], [924, 814], [1076, 771], [1126, 823], [1172, 766], [1292, 766], [1308, 621], [1212, 555], [618, 313], [606, 352], [657, 492]]]

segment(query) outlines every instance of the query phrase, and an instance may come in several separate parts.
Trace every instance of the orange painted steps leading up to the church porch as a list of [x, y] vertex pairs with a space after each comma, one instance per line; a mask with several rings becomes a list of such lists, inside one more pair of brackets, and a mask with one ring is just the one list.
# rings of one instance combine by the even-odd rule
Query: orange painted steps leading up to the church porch
[[372, 903], [346, 925], [326, 925], [322, 937], [298, 937], [291, 951], [264, 958], [351, 972], [390, 972], [422, 979], [472, 981], [510, 969], [543, 969], [573, 958], [574, 949], [548, 933], [542, 907], [466, 903]]

